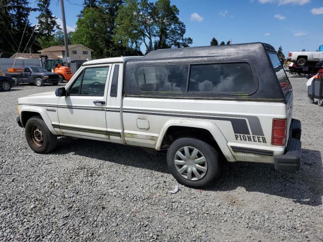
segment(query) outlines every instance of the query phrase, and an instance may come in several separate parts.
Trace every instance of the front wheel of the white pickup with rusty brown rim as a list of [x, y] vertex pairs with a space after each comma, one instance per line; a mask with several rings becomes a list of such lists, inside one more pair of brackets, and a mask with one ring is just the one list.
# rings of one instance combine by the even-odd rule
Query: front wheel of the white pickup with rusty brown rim
[[47, 154], [57, 145], [57, 136], [50, 133], [41, 116], [28, 119], [25, 136], [30, 148], [39, 154]]

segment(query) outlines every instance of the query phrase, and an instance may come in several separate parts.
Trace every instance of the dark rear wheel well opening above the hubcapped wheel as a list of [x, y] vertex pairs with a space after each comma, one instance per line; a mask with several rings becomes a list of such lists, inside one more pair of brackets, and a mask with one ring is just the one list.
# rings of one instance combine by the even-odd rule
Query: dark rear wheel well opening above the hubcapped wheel
[[163, 141], [161, 142], [161, 149], [168, 149], [168, 147], [175, 140], [182, 137], [190, 137], [202, 140], [211, 145], [214, 149], [216, 149], [218, 152], [220, 152], [220, 154], [223, 155], [217, 141], [208, 130], [185, 126], [169, 127], [164, 135]]

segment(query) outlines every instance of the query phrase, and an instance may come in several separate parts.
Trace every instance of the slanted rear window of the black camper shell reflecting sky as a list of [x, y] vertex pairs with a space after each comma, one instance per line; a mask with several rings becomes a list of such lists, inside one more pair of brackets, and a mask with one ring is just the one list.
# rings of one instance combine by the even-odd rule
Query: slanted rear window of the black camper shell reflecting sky
[[284, 96], [288, 95], [288, 91], [292, 88], [292, 84], [289, 82], [288, 77], [284, 71], [283, 65], [279, 60], [277, 53], [268, 52], [269, 57], [271, 59], [275, 74], [279, 81], [279, 85], [281, 86]]

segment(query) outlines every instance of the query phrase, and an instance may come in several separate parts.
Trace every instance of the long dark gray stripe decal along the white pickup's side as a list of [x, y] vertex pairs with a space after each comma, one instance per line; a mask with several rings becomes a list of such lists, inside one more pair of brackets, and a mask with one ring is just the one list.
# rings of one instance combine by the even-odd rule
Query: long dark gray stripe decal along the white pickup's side
[[[84, 106], [63, 106], [63, 105], [46, 105], [46, 104], [28, 104], [20, 103], [19, 105], [33, 105], [33, 106], [44, 106], [44, 107], [56, 107], [56, 108], [72, 108], [72, 109], [83, 109], [83, 110], [97, 110], [97, 111], [109, 111], [109, 112], [120, 112], [118, 107], [84, 107]], [[227, 120], [230, 121], [233, 130], [236, 134], [250, 135], [249, 128], [245, 119], [248, 120], [252, 135], [264, 136], [261, 128], [260, 120], [257, 116], [249, 115], [235, 115], [235, 114], [212, 114], [212, 113], [198, 113], [198, 112], [187, 112], [187, 111], [165, 111], [165, 110], [143, 110], [136, 108], [125, 108], [122, 110], [125, 113], [142, 113], [147, 115], [164, 115], [172, 117], [192, 117], [192, 118], [203, 118], [213, 120]], [[245, 118], [245, 119], [244, 119]]]

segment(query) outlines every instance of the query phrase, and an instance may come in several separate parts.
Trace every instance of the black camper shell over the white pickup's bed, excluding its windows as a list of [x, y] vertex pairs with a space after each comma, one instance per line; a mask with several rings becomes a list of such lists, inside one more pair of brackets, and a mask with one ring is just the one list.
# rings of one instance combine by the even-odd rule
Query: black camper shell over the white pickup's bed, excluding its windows
[[[124, 96], [286, 102], [290, 94], [284, 91], [283, 86], [288, 85], [288, 90], [291, 90], [291, 86], [282, 65], [279, 63], [280, 66], [273, 66], [270, 54], [277, 56], [275, 48], [265, 43], [153, 50], [141, 59], [126, 62]], [[250, 66], [254, 80], [254, 86], [250, 90], [245, 92], [189, 91], [190, 73], [192, 67], [195, 67], [194, 65], [230, 65], [236, 63]], [[185, 77], [186, 89], [180, 91], [146, 91], [139, 88], [138, 81], [140, 80], [138, 80], [137, 72], [138, 70], [141, 72], [141, 67], [172, 65], [175, 65], [175, 68], [184, 66], [185, 73], [187, 71], [187, 77]], [[278, 80], [277, 72], [284, 75], [284, 81], [287, 84], [282, 84], [282, 81]]]

